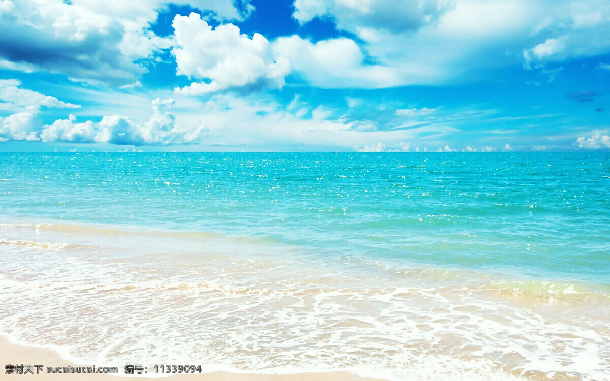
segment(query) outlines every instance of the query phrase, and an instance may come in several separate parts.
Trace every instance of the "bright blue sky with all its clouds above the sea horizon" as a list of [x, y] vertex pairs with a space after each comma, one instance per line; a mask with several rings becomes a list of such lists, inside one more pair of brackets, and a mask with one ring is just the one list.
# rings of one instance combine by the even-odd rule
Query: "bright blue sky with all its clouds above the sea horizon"
[[0, 0], [0, 151], [610, 149], [607, 0]]

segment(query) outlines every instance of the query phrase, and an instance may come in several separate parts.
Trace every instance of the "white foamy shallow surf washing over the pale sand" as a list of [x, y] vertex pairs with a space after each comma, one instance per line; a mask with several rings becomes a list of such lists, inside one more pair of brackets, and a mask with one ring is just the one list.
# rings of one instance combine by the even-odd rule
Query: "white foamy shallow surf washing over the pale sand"
[[[462, 282], [467, 274], [447, 280], [437, 270], [374, 263], [363, 270], [250, 240], [109, 231], [5, 227], [0, 300], [11, 308], [0, 312], [0, 327], [12, 341], [77, 363], [149, 369], [342, 369], [390, 380], [598, 380], [610, 372], [607, 301], [557, 313], [561, 306], [501, 297], [528, 285], [475, 287]], [[77, 249], [52, 246], [60, 240]], [[32, 251], [18, 242], [39, 244]]]

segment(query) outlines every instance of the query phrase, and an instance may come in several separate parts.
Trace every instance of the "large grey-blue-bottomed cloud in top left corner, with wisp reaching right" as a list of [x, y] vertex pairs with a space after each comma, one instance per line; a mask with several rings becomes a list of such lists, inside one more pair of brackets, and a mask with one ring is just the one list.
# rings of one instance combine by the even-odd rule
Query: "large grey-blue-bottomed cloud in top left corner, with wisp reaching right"
[[214, 0], [19, 0], [0, 2], [0, 63], [36, 68], [74, 80], [132, 84], [146, 71], [138, 59], [171, 47], [149, 29], [170, 2], [216, 20], [243, 20], [252, 5]]

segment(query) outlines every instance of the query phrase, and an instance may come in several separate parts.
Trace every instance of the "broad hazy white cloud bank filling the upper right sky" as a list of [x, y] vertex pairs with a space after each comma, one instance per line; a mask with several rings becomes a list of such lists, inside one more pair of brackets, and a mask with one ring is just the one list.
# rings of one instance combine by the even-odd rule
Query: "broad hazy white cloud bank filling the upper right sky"
[[334, 71], [321, 64], [326, 60], [307, 57], [312, 47], [296, 37], [279, 39], [277, 50], [319, 87], [444, 84], [468, 81], [486, 68], [531, 68], [610, 52], [609, 15], [606, 0], [296, 0], [296, 20], [328, 17], [357, 35], [360, 50], [346, 55], [351, 65], [339, 58], [345, 54], [326, 57], [340, 66]]

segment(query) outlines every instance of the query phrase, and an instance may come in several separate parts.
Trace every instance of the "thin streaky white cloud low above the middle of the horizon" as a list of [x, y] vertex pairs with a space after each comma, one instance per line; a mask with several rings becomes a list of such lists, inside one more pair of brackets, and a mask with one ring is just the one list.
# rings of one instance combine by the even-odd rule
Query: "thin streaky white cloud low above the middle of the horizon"
[[[198, 112], [193, 110], [184, 109], [176, 115], [186, 125], [195, 125], [200, 120], [205, 122], [209, 132], [199, 148], [205, 151], [274, 151], [278, 148], [343, 151], [370, 146], [371, 141], [375, 142], [373, 145], [383, 142], [398, 149], [400, 141], [410, 141], [417, 134], [405, 130], [363, 134], [342, 117], [327, 114], [325, 118], [314, 118], [315, 106], [299, 98], [293, 99], [287, 107], [273, 96], [264, 94], [217, 94], [198, 107]], [[302, 110], [307, 111], [303, 113]], [[339, 114], [337, 110], [332, 111], [333, 115]]]

